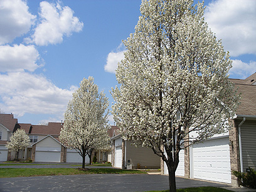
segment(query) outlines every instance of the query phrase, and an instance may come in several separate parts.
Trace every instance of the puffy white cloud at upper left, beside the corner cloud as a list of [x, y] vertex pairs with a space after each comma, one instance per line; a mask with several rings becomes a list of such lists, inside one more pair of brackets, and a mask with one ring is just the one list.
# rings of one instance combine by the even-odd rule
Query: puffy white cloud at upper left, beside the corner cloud
[[83, 23], [73, 16], [73, 10], [68, 6], [42, 1], [39, 14], [41, 23], [36, 27], [32, 40], [27, 39], [28, 43], [41, 46], [61, 43], [64, 35], [70, 36], [83, 28]]

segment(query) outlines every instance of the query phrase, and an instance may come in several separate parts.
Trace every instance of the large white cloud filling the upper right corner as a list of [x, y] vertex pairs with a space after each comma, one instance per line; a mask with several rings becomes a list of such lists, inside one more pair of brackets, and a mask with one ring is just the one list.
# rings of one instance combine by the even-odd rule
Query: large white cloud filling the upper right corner
[[205, 20], [231, 56], [256, 54], [256, 1], [216, 0], [205, 11]]

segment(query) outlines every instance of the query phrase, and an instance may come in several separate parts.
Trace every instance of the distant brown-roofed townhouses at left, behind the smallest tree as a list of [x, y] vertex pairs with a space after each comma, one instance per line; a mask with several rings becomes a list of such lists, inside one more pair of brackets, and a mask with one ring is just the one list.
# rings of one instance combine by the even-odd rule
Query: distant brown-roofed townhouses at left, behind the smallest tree
[[[5, 147], [11, 134], [17, 129], [24, 129], [30, 138], [30, 146], [19, 152], [19, 160], [35, 162], [82, 163], [82, 157], [75, 149], [67, 149], [59, 141], [63, 124], [49, 122], [48, 125], [19, 124], [13, 114], [0, 114], [0, 161], [14, 160], [15, 152]], [[85, 163], [89, 163], [85, 157]]]

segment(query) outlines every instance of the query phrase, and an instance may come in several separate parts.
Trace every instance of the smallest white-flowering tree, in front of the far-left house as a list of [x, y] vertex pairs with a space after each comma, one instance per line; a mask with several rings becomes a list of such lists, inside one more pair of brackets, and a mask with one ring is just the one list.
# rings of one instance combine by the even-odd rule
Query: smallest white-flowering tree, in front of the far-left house
[[19, 151], [26, 149], [29, 144], [30, 139], [26, 132], [23, 129], [17, 129], [10, 137], [10, 141], [7, 142], [6, 148], [9, 151], [16, 151], [16, 160], [19, 161]]

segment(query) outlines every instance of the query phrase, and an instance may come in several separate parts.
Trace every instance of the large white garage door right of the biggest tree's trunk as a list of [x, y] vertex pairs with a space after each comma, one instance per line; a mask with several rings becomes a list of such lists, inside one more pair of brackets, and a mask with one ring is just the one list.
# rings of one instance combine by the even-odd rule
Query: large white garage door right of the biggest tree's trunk
[[192, 151], [193, 178], [231, 183], [228, 137], [194, 144]]

